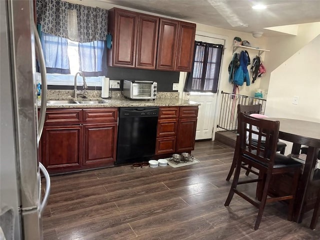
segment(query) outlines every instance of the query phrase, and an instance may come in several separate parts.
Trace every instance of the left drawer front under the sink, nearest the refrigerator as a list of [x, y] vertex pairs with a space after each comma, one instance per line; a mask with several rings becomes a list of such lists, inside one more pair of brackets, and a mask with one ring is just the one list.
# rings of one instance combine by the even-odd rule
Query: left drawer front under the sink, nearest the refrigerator
[[48, 109], [45, 113], [44, 125], [79, 124], [81, 120], [81, 109]]

